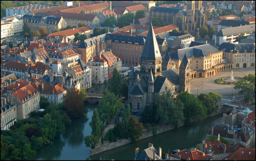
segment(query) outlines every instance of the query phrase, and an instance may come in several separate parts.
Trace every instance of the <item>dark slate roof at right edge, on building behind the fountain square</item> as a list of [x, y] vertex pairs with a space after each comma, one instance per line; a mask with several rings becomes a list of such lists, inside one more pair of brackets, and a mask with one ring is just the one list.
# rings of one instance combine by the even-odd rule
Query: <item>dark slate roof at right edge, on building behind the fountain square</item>
[[252, 52], [252, 50], [255, 50], [255, 43], [246, 43], [246, 44], [233, 44], [233, 43], [227, 43], [223, 42], [218, 46], [219, 50], [225, 49], [224, 52], [230, 52], [230, 50], [233, 50], [232, 53], [237, 53], [239, 50], [240, 53], [246, 52]]

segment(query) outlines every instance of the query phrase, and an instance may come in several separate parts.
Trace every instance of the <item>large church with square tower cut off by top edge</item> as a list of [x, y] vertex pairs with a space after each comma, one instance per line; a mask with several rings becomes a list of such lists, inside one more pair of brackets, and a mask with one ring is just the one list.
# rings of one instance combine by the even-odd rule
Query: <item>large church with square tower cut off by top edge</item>
[[187, 8], [152, 7], [147, 13], [150, 18], [160, 17], [167, 24], [176, 24], [180, 31], [198, 35], [198, 29], [206, 25], [207, 18], [203, 13], [202, 1], [186, 1]]

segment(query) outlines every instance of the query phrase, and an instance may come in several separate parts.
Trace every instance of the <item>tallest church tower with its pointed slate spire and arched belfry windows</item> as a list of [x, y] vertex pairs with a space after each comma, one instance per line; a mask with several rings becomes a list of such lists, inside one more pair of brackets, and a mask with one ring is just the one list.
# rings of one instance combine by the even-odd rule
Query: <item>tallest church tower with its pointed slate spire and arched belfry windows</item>
[[162, 57], [157, 44], [157, 39], [153, 30], [152, 23], [150, 25], [150, 30], [146, 37], [146, 41], [140, 56], [140, 73], [141, 75], [148, 78], [152, 70], [153, 77], [156, 78], [161, 74], [162, 70]]

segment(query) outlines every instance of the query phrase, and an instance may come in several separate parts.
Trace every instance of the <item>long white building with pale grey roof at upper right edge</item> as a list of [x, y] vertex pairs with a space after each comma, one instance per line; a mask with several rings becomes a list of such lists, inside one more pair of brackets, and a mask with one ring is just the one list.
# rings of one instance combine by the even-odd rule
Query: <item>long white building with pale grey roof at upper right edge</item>
[[212, 40], [215, 45], [220, 45], [223, 42], [233, 43], [240, 34], [244, 33], [244, 36], [249, 36], [252, 32], [255, 32], [255, 24], [221, 29], [218, 33], [213, 35]]

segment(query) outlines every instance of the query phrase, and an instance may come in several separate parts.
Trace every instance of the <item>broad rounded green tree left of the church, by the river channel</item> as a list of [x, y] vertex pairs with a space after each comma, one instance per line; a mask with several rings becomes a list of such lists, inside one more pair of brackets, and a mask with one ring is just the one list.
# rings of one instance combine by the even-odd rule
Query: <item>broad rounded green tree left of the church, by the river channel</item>
[[109, 124], [110, 119], [117, 115], [121, 108], [122, 103], [120, 98], [114, 93], [106, 92], [106, 94], [102, 96], [102, 99], [99, 100], [98, 104], [99, 118], [102, 123]]

